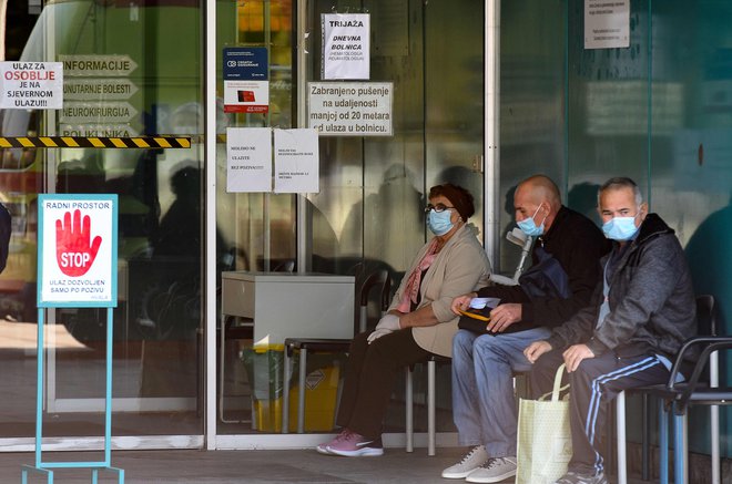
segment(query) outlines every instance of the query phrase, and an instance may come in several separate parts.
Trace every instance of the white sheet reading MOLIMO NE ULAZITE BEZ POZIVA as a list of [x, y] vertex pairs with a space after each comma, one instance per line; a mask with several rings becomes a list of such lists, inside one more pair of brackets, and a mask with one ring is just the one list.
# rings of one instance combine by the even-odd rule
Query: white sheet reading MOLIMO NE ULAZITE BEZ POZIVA
[[226, 192], [272, 192], [272, 130], [226, 128]]

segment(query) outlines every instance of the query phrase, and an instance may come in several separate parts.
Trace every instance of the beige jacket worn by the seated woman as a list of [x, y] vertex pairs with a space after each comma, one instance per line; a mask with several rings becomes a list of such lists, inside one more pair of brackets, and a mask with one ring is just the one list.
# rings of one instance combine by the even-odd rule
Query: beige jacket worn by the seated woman
[[[458, 318], [450, 310], [457, 296], [475, 291], [488, 285], [490, 261], [477, 238], [472, 224], [464, 225], [439, 251], [421, 279], [419, 308], [431, 305], [439, 321], [435, 326], [411, 328], [411, 334], [423, 349], [451, 358], [453, 337], [457, 332]], [[396, 309], [401, 300], [409, 274], [421, 260], [429, 243], [425, 244], [411, 261], [394, 295], [389, 310]]]

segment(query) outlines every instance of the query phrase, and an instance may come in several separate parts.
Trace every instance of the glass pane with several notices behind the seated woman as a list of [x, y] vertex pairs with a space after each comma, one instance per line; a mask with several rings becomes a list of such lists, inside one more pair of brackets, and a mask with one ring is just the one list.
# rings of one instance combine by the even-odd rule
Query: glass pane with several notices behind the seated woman
[[[292, 31], [297, 17], [291, 13], [298, 7], [306, 18], [306, 27], [299, 32]], [[393, 83], [393, 134], [321, 133], [319, 192], [301, 195], [226, 193], [226, 154], [220, 144], [218, 227], [234, 247], [231, 254], [236, 270], [272, 270], [286, 259], [296, 259], [303, 244], [306, 256], [297, 264], [305, 267], [294, 270], [353, 275], [363, 268], [384, 267], [396, 285], [426, 240], [423, 207], [430, 186], [450, 182], [468, 188], [478, 209], [471, 222], [482, 230], [484, 4], [469, 0], [220, 2], [217, 50], [268, 47], [274, 97], [267, 115], [234, 114], [230, 126], [307, 127], [294, 121], [303, 117], [297, 110], [307, 110], [302, 101], [297, 103], [297, 80], [322, 81], [321, 14], [333, 12], [369, 14], [370, 76], [363, 82]], [[282, 22], [278, 16], [284, 16]], [[298, 39], [303, 39], [307, 51], [303, 65], [291, 56]], [[278, 92], [279, 86], [283, 92]], [[217, 95], [223, 89], [218, 74]], [[377, 308], [370, 309], [374, 325]], [[233, 330], [227, 331], [241, 322], [222, 318], [220, 328], [236, 337]], [[221, 446], [309, 445], [318, 439], [312, 433], [331, 432], [333, 415], [327, 425], [309, 434], [291, 434], [282, 441], [263, 436], [281, 431], [276, 419], [282, 409], [277, 402], [282, 385], [288, 383], [281, 380], [276, 349], [256, 353], [251, 336], [240, 332], [238, 337], [226, 337], [223, 356], [218, 353], [224, 369], [224, 378], [221, 368], [217, 374], [222, 378], [216, 415], [216, 441]], [[337, 363], [325, 361], [321, 370], [333, 365]], [[309, 365], [307, 370], [312, 370]], [[451, 431], [449, 368], [440, 371], [438, 430]], [[426, 375], [417, 379], [426, 381]], [[264, 388], [257, 387], [261, 384]], [[417, 391], [424, 392], [425, 388], [418, 387]], [[416, 401], [424, 400], [417, 397]], [[264, 424], [263, 408], [276, 409], [274, 420]], [[417, 416], [417, 430], [425, 426], [426, 418]], [[386, 432], [404, 432], [401, 388], [395, 389]]]

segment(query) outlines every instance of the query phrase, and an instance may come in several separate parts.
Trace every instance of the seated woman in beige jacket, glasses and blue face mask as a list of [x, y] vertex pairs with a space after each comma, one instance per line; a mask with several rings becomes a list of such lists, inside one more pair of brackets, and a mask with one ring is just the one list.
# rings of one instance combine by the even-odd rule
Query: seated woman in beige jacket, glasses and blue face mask
[[458, 319], [453, 299], [488, 284], [490, 262], [467, 224], [475, 213], [470, 193], [434, 186], [425, 212], [435, 237], [417, 254], [376, 329], [354, 338], [336, 419], [342, 431], [317, 446], [322, 454], [384, 454], [382, 421], [398, 371], [430, 354], [450, 357]]

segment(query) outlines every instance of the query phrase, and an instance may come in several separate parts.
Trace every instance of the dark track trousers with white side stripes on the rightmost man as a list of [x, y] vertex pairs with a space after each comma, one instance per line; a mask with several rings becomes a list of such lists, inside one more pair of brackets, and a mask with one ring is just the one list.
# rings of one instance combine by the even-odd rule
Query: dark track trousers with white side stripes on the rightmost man
[[[561, 353], [559, 350], [549, 351], [533, 364], [530, 381], [535, 398], [551, 391], [557, 368], [563, 362]], [[604, 429], [607, 403], [623, 390], [668, 380], [669, 370], [652, 354], [618, 358], [613, 352], [607, 352], [582, 360], [577, 370], [569, 373], [572, 431], [569, 470], [583, 475], [602, 472], [597, 433]]]

